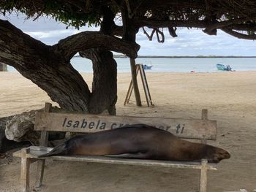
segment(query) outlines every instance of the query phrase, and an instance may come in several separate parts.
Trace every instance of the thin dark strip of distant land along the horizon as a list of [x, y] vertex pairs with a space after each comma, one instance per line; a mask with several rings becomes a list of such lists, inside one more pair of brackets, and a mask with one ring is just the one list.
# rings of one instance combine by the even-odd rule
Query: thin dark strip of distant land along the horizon
[[[76, 55], [75, 57], [80, 57]], [[126, 55], [114, 55], [114, 58], [128, 58]], [[138, 55], [138, 58], [256, 58], [256, 56], [224, 56], [224, 55], [197, 55], [197, 56], [164, 56], [164, 55]]]

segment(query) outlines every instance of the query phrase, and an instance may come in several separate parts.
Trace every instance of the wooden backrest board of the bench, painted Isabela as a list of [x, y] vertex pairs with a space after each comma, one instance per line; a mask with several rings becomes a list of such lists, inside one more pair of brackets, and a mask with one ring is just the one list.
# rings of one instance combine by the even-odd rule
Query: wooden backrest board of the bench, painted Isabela
[[105, 116], [54, 112], [37, 112], [37, 131], [93, 133], [132, 124], [146, 124], [187, 139], [216, 139], [216, 120]]

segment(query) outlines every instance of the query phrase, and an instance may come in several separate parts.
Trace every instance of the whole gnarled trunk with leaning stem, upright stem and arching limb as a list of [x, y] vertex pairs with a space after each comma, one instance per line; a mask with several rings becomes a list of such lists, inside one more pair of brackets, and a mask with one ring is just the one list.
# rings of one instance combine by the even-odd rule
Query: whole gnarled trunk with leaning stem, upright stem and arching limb
[[[108, 19], [113, 17], [110, 15]], [[113, 37], [110, 35], [112, 28], [108, 28], [111, 22], [104, 23], [105, 28], [100, 32], [81, 32], [48, 46], [24, 34], [8, 21], [0, 20], [0, 61], [13, 66], [37, 84], [63, 109], [95, 114], [108, 110], [114, 115], [116, 61], [107, 50], [135, 58], [140, 46]], [[72, 56], [80, 50], [91, 52], [89, 58], [94, 64], [92, 93], [83, 77], [70, 64]]]

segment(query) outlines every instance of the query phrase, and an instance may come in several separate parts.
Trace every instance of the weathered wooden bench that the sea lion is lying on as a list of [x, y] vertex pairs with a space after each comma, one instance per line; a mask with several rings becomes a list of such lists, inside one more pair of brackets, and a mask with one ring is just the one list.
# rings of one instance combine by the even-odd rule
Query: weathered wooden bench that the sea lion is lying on
[[37, 178], [35, 187], [42, 185], [45, 159], [62, 161], [86, 161], [105, 164], [127, 164], [134, 166], [162, 166], [175, 168], [200, 169], [200, 192], [207, 189], [208, 169], [217, 170], [217, 164], [209, 164], [206, 159], [200, 162], [185, 161], [155, 161], [141, 159], [110, 158], [105, 156], [51, 156], [38, 158], [52, 148], [45, 147], [48, 143], [48, 131], [68, 131], [80, 133], [92, 133], [96, 131], [118, 128], [126, 124], [144, 123], [170, 131], [177, 137], [184, 139], [200, 139], [202, 143], [207, 140], [216, 140], [216, 120], [208, 120], [207, 110], [202, 110], [201, 119], [178, 118], [146, 118], [128, 116], [103, 116], [74, 113], [50, 112], [51, 104], [45, 104], [45, 112], [37, 112], [34, 129], [41, 131], [40, 146], [31, 146], [13, 153], [13, 156], [21, 158], [20, 189], [29, 191], [29, 165], [37, 161]]

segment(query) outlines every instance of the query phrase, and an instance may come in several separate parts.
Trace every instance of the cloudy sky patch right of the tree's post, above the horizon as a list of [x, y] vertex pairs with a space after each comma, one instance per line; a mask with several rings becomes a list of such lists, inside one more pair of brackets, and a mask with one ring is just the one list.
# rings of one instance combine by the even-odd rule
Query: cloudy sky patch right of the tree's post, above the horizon
[[[209, 36], [199, 29], [178, 28], [178, 37], [170, 37], [164, 30], [165, 42], [151, 42], [143, 38], [143, 31], [138, 33], [140, 55], [255, 55], [256, 42], [237, 39], [223, 31], [217, 36]], [[146, 37], [146, 36], [145, 36]], [[153, 52], [154, 51], [154, 52]]]

